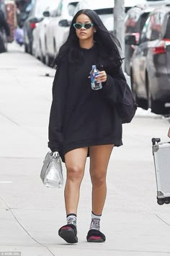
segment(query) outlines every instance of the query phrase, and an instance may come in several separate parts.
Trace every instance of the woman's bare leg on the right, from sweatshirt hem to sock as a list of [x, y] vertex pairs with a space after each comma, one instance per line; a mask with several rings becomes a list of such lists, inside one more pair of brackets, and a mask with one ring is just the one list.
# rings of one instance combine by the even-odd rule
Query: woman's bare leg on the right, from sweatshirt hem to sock
[[106, 175], [109, 157], [114, 145], [91, 146], [90, 152], [90, 175], [92, 182], [92, 211], [101, 215], [104, 207], [107, 185]]

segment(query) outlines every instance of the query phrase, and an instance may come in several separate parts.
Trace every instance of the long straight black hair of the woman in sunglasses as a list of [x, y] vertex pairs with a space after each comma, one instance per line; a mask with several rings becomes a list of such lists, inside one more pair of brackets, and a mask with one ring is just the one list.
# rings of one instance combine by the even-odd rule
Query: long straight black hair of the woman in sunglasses
[[91, 9], [81, 9], [73, 17], [68, 38], [66, 43], [64, 43], [58, 51], [54, 61], [54, 66], [57, 66], [66, 56], [69, 56], [69, 61], [71, 63], [81, 63], [81, 58], [83, 58], [83, 56], [79, 46], [79, 38], [77, 37], [76, 30], [73, 27], [73, 24], [76, 23], [76, 19], [80, 14], [86, 14], [91, 19], [91, 22], [97, 30], [97, 32], [94, 33], [94, 42], [97, 45], [100, 63], [107, 63], [107, 65], [111, 65], [112, 68], [119, 68], [122, 64], [122, 58], [120, 57], [120, 52], [117, 46], [120, 47], [120, 43], [117, 38], [109, 33], [107, 28], [104, 27], [104, 24], [97, 15], [97, 12], [94, 12]]

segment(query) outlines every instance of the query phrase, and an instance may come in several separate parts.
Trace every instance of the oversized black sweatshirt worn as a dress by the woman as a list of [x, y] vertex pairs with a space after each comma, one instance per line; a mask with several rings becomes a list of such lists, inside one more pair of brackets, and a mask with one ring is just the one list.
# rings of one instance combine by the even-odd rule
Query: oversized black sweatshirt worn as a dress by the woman
[[[68, 58], [58, 65], [53, 81], [53, 102], [50, 110], [49, 142], [52, 151], [64, 154], [84, 146], [122, 145], [122, 122], [115, 103], [120, 82], [125, 83], [122, 70], [105, 70], [107, 81], [102, 89], [91, 89], [89, 72], [97, 64], [97, 47], [81, 48], [81, 65], [69, 63]], [[104, 69], [104, 68], [103, 68]]]

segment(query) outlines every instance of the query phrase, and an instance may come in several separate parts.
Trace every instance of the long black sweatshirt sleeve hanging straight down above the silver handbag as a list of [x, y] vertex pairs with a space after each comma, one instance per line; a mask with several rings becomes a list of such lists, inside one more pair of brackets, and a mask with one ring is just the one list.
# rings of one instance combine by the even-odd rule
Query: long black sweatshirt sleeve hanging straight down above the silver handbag
[[48, 126], [48, 147], [51, 151], [60, 151], [63, 144], [63, 117], [68, 87], [68, 63], [61, 63], [53, 81], [53, 101], [50, 108]]

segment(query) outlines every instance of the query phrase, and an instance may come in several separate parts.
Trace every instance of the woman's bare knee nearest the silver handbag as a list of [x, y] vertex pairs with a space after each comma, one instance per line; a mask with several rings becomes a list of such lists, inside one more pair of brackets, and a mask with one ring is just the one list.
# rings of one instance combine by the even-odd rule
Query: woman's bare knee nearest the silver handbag
[[84, 168], [78, 165], [67, 167], [67, 178], [71, 181], [80, 181], [84, 175]]

